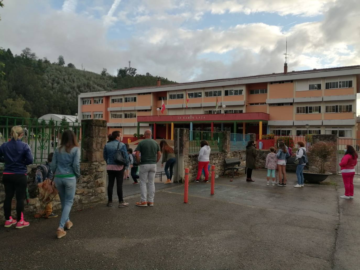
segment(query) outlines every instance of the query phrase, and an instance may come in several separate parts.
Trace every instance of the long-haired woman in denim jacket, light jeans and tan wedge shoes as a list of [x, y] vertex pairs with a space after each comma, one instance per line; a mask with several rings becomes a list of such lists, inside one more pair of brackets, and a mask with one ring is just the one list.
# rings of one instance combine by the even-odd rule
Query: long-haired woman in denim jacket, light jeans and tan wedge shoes
[[59, 190], [61, 218], [57, 237], [66, 235], [66, 229], [72, 227], [69, 213], [74, 201], [76, 179], [80, 177], [80, 148], [72, 130], [65, 130], [59, 148], [55, 149], [51, 171], [54, 173], [55, 187]]

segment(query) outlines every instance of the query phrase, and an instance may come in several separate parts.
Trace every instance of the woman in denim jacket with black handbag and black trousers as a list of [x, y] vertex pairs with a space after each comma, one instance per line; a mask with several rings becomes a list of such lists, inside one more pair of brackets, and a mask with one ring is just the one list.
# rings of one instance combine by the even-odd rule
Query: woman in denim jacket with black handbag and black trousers
[[108, 173], [108, 203], [107, 206], [112, 206], [112, 194], [114, 183], [116, 179], [117, 196], [119, 198], [118, 207], [128, 206], [129, 203], [123, 201], [122, 198], [122, 183], [124, 180], [124, 171], [129, 164], [129, 155], [125, 144], [121, 142], [120, 131], [113, 131], [109, 137], [109, 142], [104, 147], [104, 160], [106, 161], [106, 170]]

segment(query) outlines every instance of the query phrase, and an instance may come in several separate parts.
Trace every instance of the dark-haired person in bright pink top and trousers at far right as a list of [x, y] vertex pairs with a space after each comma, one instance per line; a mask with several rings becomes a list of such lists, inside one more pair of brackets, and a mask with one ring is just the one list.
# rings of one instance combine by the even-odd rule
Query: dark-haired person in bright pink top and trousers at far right
[[345, 156], [339, 163], [341, 167], [342, 180], [345, 186], [345, 195], [340, 196], [343, 199], [354, 198], [354, 184], [352, 180], [355, 175], [355, 166], [357, 165], [357, 153], [351, 145], [346, 145]]

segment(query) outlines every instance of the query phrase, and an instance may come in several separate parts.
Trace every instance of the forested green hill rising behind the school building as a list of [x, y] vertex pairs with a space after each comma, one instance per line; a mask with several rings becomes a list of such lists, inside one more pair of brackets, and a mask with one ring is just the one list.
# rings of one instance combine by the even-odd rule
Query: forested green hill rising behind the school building
[[[102, 68], [100, 68], [99, 72]], [[157, 76], [136, 74], [135, 68], [119, 68], [112, 76], [103, 68], [101, 74], [38, 58], [26, 48], [21, 55], [0, 48], [0, 116], [37, 118], [47, 113], [77, 112], [80, 93], [109, 91], [138, 86], [154, 86]], [[161, 84], [174, 84], [161, 77]]]

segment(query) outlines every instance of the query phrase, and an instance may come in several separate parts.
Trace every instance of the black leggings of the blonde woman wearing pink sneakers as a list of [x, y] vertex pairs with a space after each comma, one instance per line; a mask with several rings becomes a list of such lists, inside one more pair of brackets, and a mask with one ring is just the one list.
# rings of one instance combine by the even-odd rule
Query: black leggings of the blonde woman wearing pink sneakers
[[17, 221], [21, 220], [21, 214], [24, 213], [24, 199], [26, 196], [27, 179], [24, 174], [3, 174], [3, 183], [5, 188], [4, 216], [6, 220], [11, 216], [11, 201], [14, 194], [16, 197], [16, 215]]

